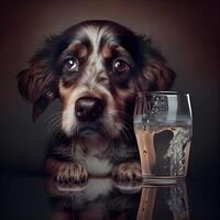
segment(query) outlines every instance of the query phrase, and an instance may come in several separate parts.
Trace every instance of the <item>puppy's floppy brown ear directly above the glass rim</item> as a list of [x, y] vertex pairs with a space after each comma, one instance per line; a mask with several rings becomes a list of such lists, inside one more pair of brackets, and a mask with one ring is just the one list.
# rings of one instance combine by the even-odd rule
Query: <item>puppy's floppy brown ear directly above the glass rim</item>
[[142, 90], [168, 90], [174, 84], [176, 73], [167, 66], [166, 59], [152, 46], [148, 37], [139, 36], [139, 43], [143, 61]]

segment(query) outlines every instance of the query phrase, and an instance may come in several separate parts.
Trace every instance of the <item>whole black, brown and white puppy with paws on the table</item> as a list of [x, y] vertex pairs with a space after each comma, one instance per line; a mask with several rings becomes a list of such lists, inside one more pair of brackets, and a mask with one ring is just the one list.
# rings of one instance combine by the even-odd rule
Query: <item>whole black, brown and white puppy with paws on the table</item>
[[30, 64], [18, 81], [34, 105], [33, 119], [57, 97], [63, 105], [65, 141], [46, 169], [66, 183], [110, 173], [140, 179], [138, 163], [112, 168], [123, 136], [132, 136], [135, 92], [168, 89], [175, 77], [151, 41], [114, 22], [86, 21], [48, 37]]

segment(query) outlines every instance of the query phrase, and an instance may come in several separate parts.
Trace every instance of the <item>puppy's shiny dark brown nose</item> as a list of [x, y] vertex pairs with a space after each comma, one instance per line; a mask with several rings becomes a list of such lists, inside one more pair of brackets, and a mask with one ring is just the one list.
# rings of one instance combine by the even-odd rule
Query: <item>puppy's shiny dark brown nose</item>
[[101, 117], [105, 100], [95, 97], [81, 97], [76, 101], [75, 114], [79, 121], [95, 121]]

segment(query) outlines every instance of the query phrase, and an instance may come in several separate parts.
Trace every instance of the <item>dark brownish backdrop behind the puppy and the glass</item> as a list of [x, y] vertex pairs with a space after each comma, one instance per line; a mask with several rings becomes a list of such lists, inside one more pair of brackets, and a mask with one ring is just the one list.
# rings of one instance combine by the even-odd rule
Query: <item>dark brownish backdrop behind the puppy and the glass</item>
[[[219, 14], [215, 1], [1, 1], [1, 172], [35, 174], [42, 170], [50, 139], [47, 119], [59, 110], [59, 102], [51, 105], [34, 124], [32, 107], [21, 99], [15, 76], [28, 67], [44, 36], [84, 20], [113, 20], [152, 36], [154, 45], [178, 75], [173, 89], [190, 94], [194, 138], [188, 173], [189, 204], [195, 219], [215, 219], [219, 207], [220, 156]], [[18, 187], [21, 185], [14, 183]]]

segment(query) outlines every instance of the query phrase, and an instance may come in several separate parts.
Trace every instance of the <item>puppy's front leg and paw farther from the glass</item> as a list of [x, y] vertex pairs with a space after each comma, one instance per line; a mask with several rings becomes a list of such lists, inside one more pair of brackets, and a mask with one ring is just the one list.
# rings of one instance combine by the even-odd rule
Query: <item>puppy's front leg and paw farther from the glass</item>
[[88, 173], [84, 166], [74, 162], [61, 162], [48, 158], [45, 170], [55, 176], [55, 180], [61, 184], [80, 184], [88, 179]]

